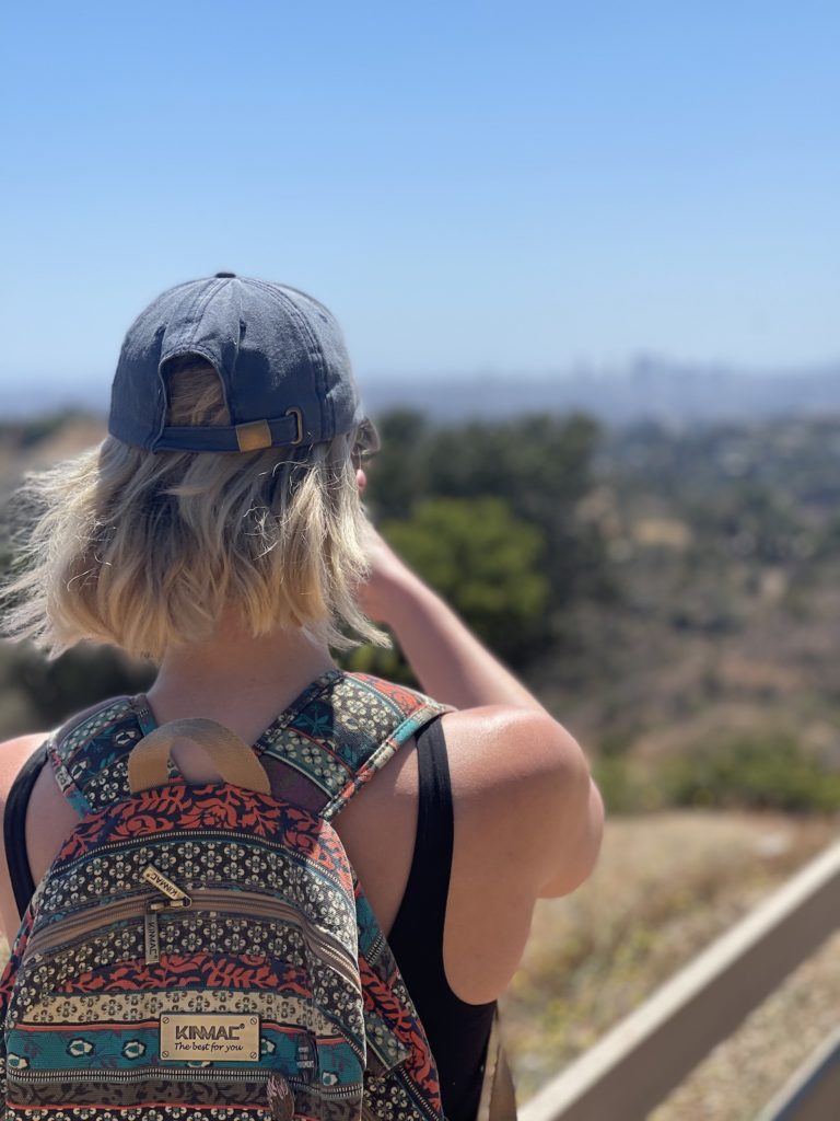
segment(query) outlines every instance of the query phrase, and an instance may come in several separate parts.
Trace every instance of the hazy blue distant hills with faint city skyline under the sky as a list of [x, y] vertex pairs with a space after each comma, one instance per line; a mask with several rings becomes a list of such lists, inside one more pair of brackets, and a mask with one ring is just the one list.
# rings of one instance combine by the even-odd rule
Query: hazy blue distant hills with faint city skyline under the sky
[[[607, 425], [657, 420], [668, 425], [840, 414], [840, 363], [812, 370], [750, 372], [727, 367], [641, 359], [618, 371], [578, 370], [536, 378], [508, 374], [365, 378], [364, 398], [376, 415], [398, 407], [436, 420], [470, 416], [579, 410]], [[108, 386], [0, 385], [0, 417], [76, 407], [104, 411]]]

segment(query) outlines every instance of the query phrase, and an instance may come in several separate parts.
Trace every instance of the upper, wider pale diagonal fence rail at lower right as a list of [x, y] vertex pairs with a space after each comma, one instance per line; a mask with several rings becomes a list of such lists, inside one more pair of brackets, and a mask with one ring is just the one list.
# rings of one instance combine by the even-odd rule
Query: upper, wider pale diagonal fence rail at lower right
[[521, 1121], [642, 1121], [839, 928], [840, 842], [549, 1082]]

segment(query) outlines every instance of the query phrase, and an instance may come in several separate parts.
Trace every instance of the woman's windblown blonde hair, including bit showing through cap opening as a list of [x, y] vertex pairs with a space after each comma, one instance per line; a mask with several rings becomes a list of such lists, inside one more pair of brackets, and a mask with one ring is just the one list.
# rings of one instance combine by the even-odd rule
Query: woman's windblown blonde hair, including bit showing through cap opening
[[[169, 372], [169, 423], [230, 424], [216, 372]], [[91, 639], [159, 660], [208, 639], [223, 611], [256, 637], [299, 628], [337, 648], [386, 646], [360, 611], [366, 519], [355, 434], [240, 454], [148, 452], [109, 436], [29, 476], [7, 633], [53, 657]]]

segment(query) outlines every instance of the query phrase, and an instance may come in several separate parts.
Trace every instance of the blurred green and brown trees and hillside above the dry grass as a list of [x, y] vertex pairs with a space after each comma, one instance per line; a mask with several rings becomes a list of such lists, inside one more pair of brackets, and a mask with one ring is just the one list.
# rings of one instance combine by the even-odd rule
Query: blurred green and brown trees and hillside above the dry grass
[[[582, 415], [380, 418], [384, 536], [587, 744], [608, 806], [840, 808], [840, 420], [603, 428]], [[0, 563], [26, 470], [101, 436], [0, 427]], [[398, 650], [352, 668], [410, 680]], [[140, 691], [150, 666], [0, 645], [0, 734]]]

